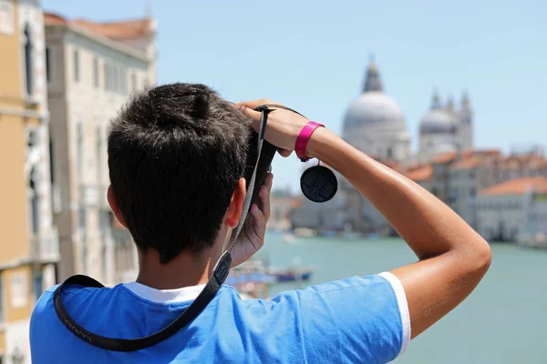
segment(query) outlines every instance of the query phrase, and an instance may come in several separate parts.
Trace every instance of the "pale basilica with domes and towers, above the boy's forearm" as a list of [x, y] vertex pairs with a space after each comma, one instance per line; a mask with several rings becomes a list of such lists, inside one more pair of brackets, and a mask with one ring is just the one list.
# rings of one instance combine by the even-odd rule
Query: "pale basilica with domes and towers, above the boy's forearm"
[[410, 150], [410, 135], [403, 110], [384, 92], [378, 67], [370, 62], [363, 92], [349, 105], [343, 137], [352, 146], [379, 160], [409, 166], [427, 163], [441, 153], [473, 147], [469, 97], [461, 97], [459, 109], [449, 99], [442, 105], [434, 93], [430, 109], [419, 125], [418, 151]]

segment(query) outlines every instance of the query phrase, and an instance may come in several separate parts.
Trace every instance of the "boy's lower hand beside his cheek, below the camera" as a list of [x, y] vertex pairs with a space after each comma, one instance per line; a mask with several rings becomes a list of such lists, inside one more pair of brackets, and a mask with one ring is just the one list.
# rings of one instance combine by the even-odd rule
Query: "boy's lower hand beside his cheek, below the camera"
[[274, 175], [268, 173], [264, 178], [263, 185], [260, 187], [258, 197], [253, 207], [251, 207], [249, 215], [247, 215], [242, 231], [233, 246], [232, 268], [253, 257], [263, 247], [266, 223], [270, 218], [270, 192], [272, 191], [273, 181]]

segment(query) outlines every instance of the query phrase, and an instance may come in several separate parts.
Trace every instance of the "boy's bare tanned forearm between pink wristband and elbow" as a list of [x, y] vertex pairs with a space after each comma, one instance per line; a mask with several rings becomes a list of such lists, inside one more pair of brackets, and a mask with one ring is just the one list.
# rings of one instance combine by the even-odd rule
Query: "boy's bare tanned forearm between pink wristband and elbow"
[[418, 258], [486, 244], [454, 211], [424, 188], [385, 167], [334, 133], [315, 130], [309, 154], [341, 173], [405, 239]]

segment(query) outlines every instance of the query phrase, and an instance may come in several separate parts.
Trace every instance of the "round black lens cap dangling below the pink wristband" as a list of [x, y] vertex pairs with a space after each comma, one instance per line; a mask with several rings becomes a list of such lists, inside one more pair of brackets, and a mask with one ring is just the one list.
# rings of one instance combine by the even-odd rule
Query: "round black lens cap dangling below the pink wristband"
[[310, 167], [300, 177], [300, 188], [307, 199], [322, 203], [335, 197], [338, 180], [335, 173], [327, 167]]

